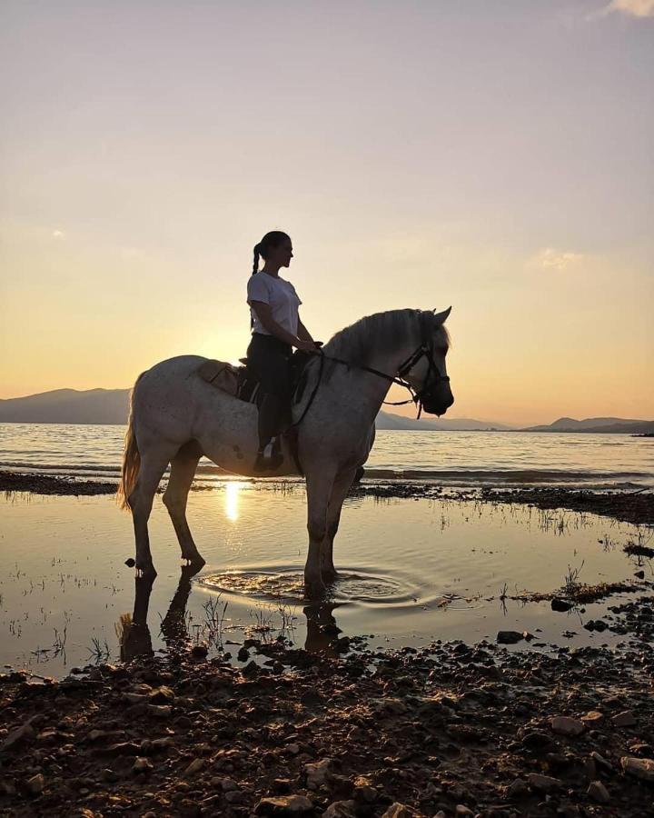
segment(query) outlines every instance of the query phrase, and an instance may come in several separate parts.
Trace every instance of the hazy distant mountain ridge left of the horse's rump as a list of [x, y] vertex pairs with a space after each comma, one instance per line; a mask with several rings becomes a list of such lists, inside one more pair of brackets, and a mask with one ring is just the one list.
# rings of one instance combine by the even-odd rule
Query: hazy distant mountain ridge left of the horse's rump
[[129, 389], [55, 389], [0, 400], [5, 424], [126, 424]]

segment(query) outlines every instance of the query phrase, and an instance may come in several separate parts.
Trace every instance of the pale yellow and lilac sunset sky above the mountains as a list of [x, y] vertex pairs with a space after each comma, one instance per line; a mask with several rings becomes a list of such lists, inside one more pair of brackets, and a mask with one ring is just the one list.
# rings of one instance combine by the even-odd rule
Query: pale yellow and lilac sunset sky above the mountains
[[235, 360], [282, 229], [316, 338], [452, 304], [448, 416], [654, 418], [654, 0], [4, 0], [0, 88], [0, 398]]

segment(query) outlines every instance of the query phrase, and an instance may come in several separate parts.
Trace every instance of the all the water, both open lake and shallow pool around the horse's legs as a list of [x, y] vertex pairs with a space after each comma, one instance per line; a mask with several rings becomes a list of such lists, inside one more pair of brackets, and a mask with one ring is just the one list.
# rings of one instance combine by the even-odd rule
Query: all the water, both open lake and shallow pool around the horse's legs
[[[5, 424], [0, 469], [116, 478], [123, 434], [119, 426]], [[652, 485], [653, 452], [651, 440], [627, 435], [380, 432], [367, 468], [446, 486], [638, 489]], [[190, 495], [189, 522], [206, 560], [195, 576], [181, 571], [173, 526], [155, 497], [152, 588], [124, 564], [134, 555], [132, 522], [111, 495], [1, 498], [0, 663], [62, 675], [91, 660], [174, 650], [180, 636], [217, 649], [218, 632], [234, 657], [251, 634], [284, 633], [315, 650], [335, 627], [374, 634], [372, 647], [477, 642], [511, 629], [534, 633], [532, 645], [614, 643], [618, 636], [589, 633], [583, 623], [629, 594], [583, 613], [552, 613], [548, 603], [502, 602], [501, 591], [553, 591], [575, 570], [587, 584], [633, 581], [637, 568], [654, 578], [649, 561], [622, 550], [651, 545], [644, 527], [475, 499], [364, 496], [343, 508], [334, 552], [341, 581], [328, 604], [307, 606], [303, 484], [224, 477], [205, 464], [207, 490]], [[147, 615], [147, 627], [130, 628], [133, 614]]]

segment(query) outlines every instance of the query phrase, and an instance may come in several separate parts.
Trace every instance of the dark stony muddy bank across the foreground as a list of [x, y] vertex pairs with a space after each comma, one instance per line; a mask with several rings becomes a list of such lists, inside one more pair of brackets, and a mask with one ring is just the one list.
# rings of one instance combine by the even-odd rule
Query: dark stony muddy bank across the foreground
[[639, 638], [615, 652], [327, 658], [251, 640], [241, 669], [186, 645], [58, 683], [8, 673], [0, 813], [650, 815], [654, 650], [629, 626], [643, 606], [616, 609]]

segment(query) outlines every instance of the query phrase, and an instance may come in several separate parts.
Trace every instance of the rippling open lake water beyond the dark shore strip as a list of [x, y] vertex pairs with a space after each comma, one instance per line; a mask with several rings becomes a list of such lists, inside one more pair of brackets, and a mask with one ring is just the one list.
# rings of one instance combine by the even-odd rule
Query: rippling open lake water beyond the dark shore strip
[[[0, 469], [117, 477], [124, 426], [0, 424]], [[654, 439], [628, 434], [377, 433], [366, 468], [418, 473], [447, 484], [654, 486]], [[198, 476], [225, 473], [201, 461]]]

